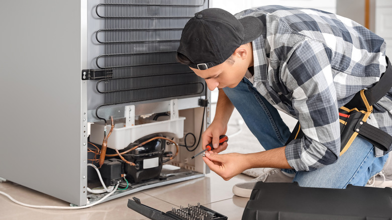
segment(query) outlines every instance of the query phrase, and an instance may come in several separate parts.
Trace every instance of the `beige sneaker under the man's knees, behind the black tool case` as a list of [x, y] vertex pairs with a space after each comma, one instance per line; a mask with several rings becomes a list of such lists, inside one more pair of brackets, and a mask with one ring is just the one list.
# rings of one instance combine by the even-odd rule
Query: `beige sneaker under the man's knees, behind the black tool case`
[[288, 174], [276, 168], [264, 168], [263, 173], [248, 182], [237, 183], [233, 186], [233, 193], [240, 197], [249, 198], [258, 181], [263, 182], [292, 182], [295, 174]]

